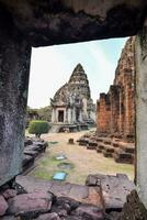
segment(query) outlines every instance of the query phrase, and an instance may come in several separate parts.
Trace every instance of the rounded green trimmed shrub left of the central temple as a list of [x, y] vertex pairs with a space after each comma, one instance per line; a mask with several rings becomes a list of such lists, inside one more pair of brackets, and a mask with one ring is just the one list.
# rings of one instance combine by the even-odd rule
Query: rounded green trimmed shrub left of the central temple
[[41, 134], [47, 133], [49, 124], [47, 121], [31, 121], [29, 125], [29, 133], [35, 134], [36, 138], [41, 138]]

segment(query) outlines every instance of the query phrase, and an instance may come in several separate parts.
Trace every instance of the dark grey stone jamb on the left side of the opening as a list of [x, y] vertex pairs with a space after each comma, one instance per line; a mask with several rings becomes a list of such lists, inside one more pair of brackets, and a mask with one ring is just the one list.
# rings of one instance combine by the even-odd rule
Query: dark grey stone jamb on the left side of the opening
[[11, 22], [0, 9], [0, 185], [22, 170], [31, 59], [31, 47]]

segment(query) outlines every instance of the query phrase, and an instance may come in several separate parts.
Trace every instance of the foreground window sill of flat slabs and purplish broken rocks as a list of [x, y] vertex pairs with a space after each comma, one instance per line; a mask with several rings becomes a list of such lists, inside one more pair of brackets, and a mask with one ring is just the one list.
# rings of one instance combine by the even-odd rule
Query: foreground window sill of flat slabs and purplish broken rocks
[[89, 175], [86, 185], [18, 176], [0, 189], [0, 220], [120, 220], [135, 189], [126, 175]]

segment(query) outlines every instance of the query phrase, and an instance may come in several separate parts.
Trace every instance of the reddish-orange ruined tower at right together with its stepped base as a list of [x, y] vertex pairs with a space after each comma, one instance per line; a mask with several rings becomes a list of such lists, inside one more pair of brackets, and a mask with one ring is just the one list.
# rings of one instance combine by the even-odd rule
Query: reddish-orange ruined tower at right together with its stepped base
[[135, 163], [135, 37], [127, 40], [114, 84], [97, 102], [97, 134], [86, 134], [80, 145], [116, 163]]

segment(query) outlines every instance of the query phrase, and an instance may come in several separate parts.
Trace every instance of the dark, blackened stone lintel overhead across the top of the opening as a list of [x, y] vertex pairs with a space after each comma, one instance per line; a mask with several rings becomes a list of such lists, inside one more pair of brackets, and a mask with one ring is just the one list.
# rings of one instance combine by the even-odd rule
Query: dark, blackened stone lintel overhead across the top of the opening
[[0, 0], [33, 46], [131, 36], [146, 16], [143, 0]]

